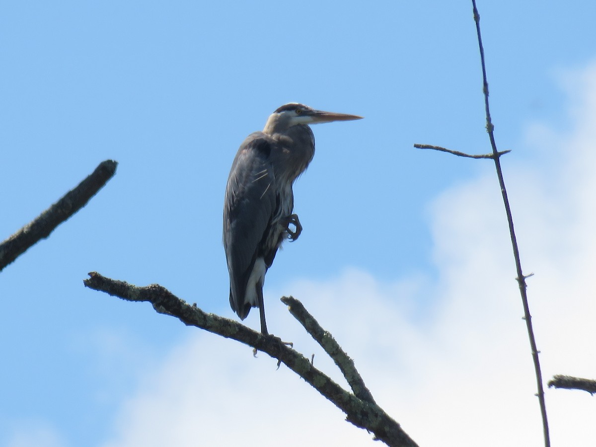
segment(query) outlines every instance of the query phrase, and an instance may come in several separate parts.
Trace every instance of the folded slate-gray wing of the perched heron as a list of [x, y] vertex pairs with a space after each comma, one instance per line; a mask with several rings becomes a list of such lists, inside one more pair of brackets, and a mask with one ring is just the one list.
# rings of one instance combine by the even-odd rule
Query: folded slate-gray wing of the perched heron
[[240, 145], [224, 201], [224, 249], [230, 280], [230, 305], [246, 317], [246, 285], [262, 249], [276, 207], [275, 176], [269, 155], [275, 141], [255, 132]]

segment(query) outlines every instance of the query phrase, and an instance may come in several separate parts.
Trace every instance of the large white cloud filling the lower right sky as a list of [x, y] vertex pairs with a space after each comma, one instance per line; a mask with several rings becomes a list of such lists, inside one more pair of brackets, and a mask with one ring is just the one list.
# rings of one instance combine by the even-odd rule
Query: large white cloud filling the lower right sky
[[[596, 65], [566, 79], [575, 126], [566, 134], [532, 126], [528, 144], [548, 141], [548, 150], [523, 164], [515, 153], [503, 159], [524, 273], [536, 273], [529, 299], [545, 381], [558, 373], [596, 377]], [[542, 445], [502, 207], [493, 173], [437, 198], [436, 283], [424, 275], [384, 282], [346, 269], [330, 281], [266, 291], [302, 299], [420, 445]], [[424, 308], [429, 293], [432, 306]], [[337, 378], [273, 301], [270, 329], [306, 355], [315, 352], [315, 365]], [[249, 324], [257, 327], [253, 313]], [[547, 390], [547, 405], [553, 445], [594, 445], [595, 403], [587, 393]], [[105, 447], [372, 445], [287, 368], [276, 371], [266, 355], [253, 359], [249, 347], [198, 331], [147, 374], [117, 421]]]

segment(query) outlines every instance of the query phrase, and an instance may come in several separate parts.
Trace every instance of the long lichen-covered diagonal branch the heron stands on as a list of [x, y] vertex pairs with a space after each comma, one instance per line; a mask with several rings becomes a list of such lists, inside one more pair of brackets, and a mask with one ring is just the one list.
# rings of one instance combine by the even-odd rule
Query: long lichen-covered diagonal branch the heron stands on
[[[188, 326], [195, 326], [222, 337], [237, 340], [265, 352], [283, 362], [290, 370], [311, 384], [321, 395], [333, 402], [346, 414], [346, 420], [356, 427], [373, 432], [376, 439], [389, 446], [417, 446], [408, 434], [403, 432], [399, 424], [378, 405], [359, 399], [342, 389], [330, 377], [316, 369], [309, 359], [285, 346], [275, 337], [263, 336], [232, 319], [203, 312], [196, 305], [189, 305], [159, 284], [137, 287], [123, 281], [105, 278], [97, 272], [90, 273], [89, 278], [83, 283], [86, 287], [128, 301], [150, 302], [157, 312], [175, 316]], [[298, 302], [293, 300], [291, 303], [296, 306]]]

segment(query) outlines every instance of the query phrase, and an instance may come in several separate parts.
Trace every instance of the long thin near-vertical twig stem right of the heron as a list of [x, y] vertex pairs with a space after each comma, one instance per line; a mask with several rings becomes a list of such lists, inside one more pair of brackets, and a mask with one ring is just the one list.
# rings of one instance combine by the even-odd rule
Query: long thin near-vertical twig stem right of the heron
[[530, 339], [530, 347], [532, 349], [532, 359], [534, 361], [534, 370], [536, 373], [536, 385], [538, 386], [538, 401], [540, 403], [540, 411], [542, 414], [542, 430], [544, 432], [544, 445], [550, 447], [550, 436], [548, 434], [548, 420], [547, 420], [547, 406], [544, 399], [544, 388], [542, 387], [542, 373], [540, 370], [540, 360], [538, 358], [539, 350], [536, 348], [536, 339], [534, 337], [534, 330], [532, 328], [532, 316], [530, 315], [530, 308], [527, 302], [527, 284], [526, 277], [522, 272], [522, 262], [520, 261], [519, 248], [517, 246], [516, 232], [513, 226], [513, 216], [511, 215], [511, 208], [509, 206], [509, 199], [507, 198], [507, 190], [505, 189], [505, 181], [503, 180], [503, 172], [501, 170], [501, 162], [499, 160], [499, 151], [496, 149], [494, 126], [491, 120], [491, 110], [488, 101], [488, 82], [486, 80], [486, 65], [484, 48], [482, 46], [482, 36], [480, 35], [480, 14], [476, 8], [476, 0], [472, 0], [474, 8], [474, 21], [476, 22], [476, 33], [478, 35], [478, 46], [480, 48], [480, 61], [482, 63], [482, 79], [483, 92], [485, 97], [486, 109], [486, 131], [489, 139], [491, 139], [491, 147], [493, 152], [493, 160], [495, 162], [496, 175], [499, 178], [499, 185], [501, 186], [501, 194], [503, 196], [503, 203], [505, 204], [505, 212], [507, 213], [507, 221], [509, 223], [509, 233], [511, 235], [511, 245], [513, 246], [513, 256], [516, 259], [517, 283], [519, 284], [520, 294], [522, 295], [522, 303], [524, 310], [524, 320], [526, 321], [527, 334]]

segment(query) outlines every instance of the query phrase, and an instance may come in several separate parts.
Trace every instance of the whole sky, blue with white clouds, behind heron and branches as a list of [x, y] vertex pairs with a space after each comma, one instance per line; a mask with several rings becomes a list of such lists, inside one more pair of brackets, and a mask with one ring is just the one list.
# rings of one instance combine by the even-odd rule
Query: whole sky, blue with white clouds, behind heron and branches
[[[578, 357], [593, 332], [580, 322], [594, 296], [586, 280], [596, 213], [586, 191], [594, 187], [596, 5], [478, 7], [496, 139], [513, 149], [502, 164], [522, 260], [536, 273], [530, 299], [545, 376], [594, 377], [594, 361]], [[294, 188], [304, 231], [268, 273], [269, 329], [309, 353], [316, 347], [277, 298], [293, 294], [314, 309], [350, 355], [361, 354], [353, 357], [373, 394], [421, 445], [437, 445], [428, 426], [453, 434], [442, 445], [474, 445], [461, 421], [466, 409], [488, 406], [474, 401], [483, 392], [510, 400], [486, 418], [473, 414], [474, 427], [519, 422], [509, 433], [540, 445], [492, 166], [412, 148], [489, 151], [468, 2], [11, 2], [0, 42], [0, 238], [101, 161], [119, 162], [88, 206], [0, 274], [0, 445], [188, 445], [197, 436], [230, 445], [241, 433], [244, 445], [275, 445], [283, 412], [305, 436], [287, 445], [324, 445], [327, 432], [370, 445], [265, 356], [254, 361], [242, 346], [82, 285], [89, 271], [159, 283], [232, 318], [221, 243], [229, 167], [245, 136], [292, 101], [365, 119], [313, 127], [315, 159]], [[561, 286], [570, 277], [577, 293]], [[246, 324], [258, 328], [257, 316]], [[492, 391], [475, 388], [471, 373], [455, 385], [462, 370], [494, 374]], [[452, 385], [438, 392], [434, 381]], [[553, 436], [573, 432], [568, 445], [589, 445], [593, 435], [564, 418], [573, 409], [581, 419], [583, 401], [564, 393], [548, 392]], [[229, 408], [222, 396], [237, 403]], [[454, 399], [465, 405], [441, 412]], [[245, 406], [277, 414], [267, 413], [269, 426], [225, 430], [225, 421], [252, 420], [237, 414]], [[483, 445], [507, 440], [501, 433]]]

